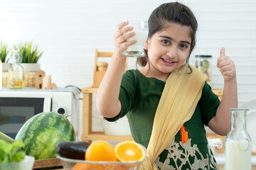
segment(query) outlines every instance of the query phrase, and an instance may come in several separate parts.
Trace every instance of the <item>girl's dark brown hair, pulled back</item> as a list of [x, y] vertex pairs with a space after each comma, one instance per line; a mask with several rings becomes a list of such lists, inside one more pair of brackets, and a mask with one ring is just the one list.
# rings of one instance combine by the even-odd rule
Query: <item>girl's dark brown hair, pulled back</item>
[[[170, 2], [166, 4], [161, 4], [157, 7], [149, 16], [149, 35], [148, 38], [151, 38], [154, 33], [164, 30], [169, 26], [170, 23], [178, 23], [181, 26], [189, 26], [191, 28], [191, 48], [186, 58], [186, 64], [188, 64], [189, 57], [193, 48], [196, 45], [196, 30], [198, 28], [198, 23], [196, 17], [193, 15], [190, 8], [180, 4], [178, 2]], [[142, 67], [146, 66], [148, 62], [147, 50], [144, 50], [146, 57], [138, 57], [137, 64]]]

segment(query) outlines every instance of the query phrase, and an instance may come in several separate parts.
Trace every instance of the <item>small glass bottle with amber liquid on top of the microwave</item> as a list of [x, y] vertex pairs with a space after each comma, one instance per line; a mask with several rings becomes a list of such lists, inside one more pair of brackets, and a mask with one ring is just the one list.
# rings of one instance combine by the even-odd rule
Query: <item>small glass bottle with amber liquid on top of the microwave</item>
[[21, 56], [14, 51], [11, 57], [11, 67], [9, 68], [9, 89], [24, 89], [24, 69], [20, 64]]

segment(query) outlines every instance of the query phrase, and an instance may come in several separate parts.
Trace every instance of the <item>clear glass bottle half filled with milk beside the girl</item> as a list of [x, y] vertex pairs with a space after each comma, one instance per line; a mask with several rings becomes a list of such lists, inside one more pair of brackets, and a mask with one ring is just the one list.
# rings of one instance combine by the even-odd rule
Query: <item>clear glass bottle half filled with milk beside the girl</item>
[[248, 109], [230, 108], [231, 130], [225, 139], [225, 170], [252, 169], [252, 142], [246, 129]]

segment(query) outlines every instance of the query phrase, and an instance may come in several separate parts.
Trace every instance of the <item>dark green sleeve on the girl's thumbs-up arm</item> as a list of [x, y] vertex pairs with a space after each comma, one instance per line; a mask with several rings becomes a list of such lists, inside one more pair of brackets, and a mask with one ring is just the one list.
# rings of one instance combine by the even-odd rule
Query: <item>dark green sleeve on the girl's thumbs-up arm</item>
[[216, 115], [220, 100], [207, 83], [203, 86], [202, 96], [198, 104], [201, 108], [203, 124], [208, 125], [209, 121]]

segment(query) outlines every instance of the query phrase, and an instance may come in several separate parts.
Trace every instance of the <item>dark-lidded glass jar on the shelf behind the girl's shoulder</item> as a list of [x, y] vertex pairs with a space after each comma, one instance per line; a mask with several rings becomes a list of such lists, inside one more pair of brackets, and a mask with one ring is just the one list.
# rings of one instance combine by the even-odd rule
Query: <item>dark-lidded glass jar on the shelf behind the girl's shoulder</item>
[[211, 72], [210, 72], [210, 60], [211, 55], [196, 55], [196, 68], [200, 70], [203, 74], [208, 77], [208, 81], [210, 81]]

